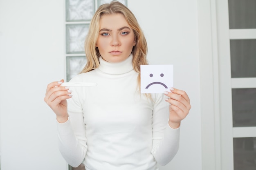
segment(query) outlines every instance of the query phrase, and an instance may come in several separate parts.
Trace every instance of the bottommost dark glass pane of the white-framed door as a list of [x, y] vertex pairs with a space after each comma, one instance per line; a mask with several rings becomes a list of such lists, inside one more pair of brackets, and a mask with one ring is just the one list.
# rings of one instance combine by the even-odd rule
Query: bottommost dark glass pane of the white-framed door
[[233, 138], [234, 170], [256, 170], [256, 137]]

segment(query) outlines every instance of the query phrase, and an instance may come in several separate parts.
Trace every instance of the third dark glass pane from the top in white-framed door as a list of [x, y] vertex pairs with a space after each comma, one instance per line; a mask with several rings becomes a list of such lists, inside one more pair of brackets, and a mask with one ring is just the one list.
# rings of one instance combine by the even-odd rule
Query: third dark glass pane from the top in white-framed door
[[256, 88], [232, 89], [233, 127], [256, 126]]

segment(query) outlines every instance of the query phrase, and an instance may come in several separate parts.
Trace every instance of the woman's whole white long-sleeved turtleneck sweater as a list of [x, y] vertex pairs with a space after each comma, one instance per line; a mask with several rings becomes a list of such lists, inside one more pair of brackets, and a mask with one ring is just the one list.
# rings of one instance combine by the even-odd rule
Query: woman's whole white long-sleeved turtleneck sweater
[[141, 94], [132, 55], [119, 63], [100, 57], [99, 68], [70, 82], [69, 119], [57, 123], [59, 149], [67, 163], [86, 170], [157, 170], [175, 156], [180, 128], [168, 126], [169, 104], [163, 94]]

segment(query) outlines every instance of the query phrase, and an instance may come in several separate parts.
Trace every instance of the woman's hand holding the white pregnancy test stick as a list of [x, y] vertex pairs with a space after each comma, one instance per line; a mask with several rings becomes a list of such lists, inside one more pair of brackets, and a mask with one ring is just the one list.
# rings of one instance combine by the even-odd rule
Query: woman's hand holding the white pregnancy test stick
[[72, 91], [68, 87], [60, 86], [64, 80], [60, 82], [52, 82], [48, 84], [44, 101], [52, 108], [56, 114], [57, 121], [64, 123], [68, 119], [67, 99], [71, 98]]

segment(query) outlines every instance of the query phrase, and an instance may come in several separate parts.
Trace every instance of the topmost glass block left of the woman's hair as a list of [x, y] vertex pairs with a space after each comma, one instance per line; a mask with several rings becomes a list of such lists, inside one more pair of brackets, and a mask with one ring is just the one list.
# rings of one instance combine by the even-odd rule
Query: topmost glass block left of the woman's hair
[[94, 7], [94, 0], [66, 0], [66, 21], [90, 21]]

